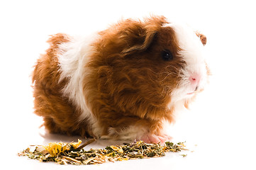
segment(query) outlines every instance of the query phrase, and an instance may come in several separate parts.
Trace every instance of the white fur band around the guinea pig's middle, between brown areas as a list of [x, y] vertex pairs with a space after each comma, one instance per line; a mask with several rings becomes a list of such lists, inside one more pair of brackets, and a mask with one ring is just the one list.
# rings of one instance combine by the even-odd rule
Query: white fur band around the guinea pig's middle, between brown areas
[[84, 98], [83, 82], [84, 76], [90, 72], [85, 66], [93, 52], [91, 42], [95, 39], [95, 35], [89, 38], [74, 37], [69, 42], [59, 45], [61, 54], [58, 57], [62, 72], [60, 81], [65, 78], [69, 79], [67, 85], [62, 89], [62, 93], [69, 97], [77, 109], [82, 111], [79, 120], [87, 119], [91, 124], [95, 122], [95, 119]]

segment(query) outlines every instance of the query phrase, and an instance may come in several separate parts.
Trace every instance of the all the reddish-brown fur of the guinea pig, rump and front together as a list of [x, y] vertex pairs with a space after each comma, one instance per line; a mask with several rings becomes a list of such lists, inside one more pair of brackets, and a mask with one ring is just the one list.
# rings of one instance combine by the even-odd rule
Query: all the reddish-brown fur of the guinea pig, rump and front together
[[[164, 23], [164, 17], [121, 21], [101, 31], [99, 40], [92, 44], [94, 53], [86, 66], [91, 74], [84, 76], [84, 97], [104, 130], [101, 135], [108, 135], [111, 128], [116, 131], [113, 137], [118, 138], [130, 125], [162, 135], [162, 120], [173, 121], [173, 110], [167, 105], [181, 79], [179, 69], [186, 63], [177, 55], [181, 49], [174, 30], [162, 27]], [[50, 48], [35, 65], [35, 113], [43, 116], [50, 132], [94, 136], [87, 120], [78, 121], [79, 109], [62, 95], [68, 80], [58, 82], [58, 45], [68, 41], [64, 34], [52, 36]], [[174, 60], [161, 59], [165, 49], [172, 52]]]

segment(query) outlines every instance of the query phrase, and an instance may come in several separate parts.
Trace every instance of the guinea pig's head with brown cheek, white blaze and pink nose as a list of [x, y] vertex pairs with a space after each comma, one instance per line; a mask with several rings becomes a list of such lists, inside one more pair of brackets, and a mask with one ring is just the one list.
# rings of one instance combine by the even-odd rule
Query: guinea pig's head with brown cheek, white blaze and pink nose
[[189, 27], [161, 16], [122, 21], [101, 35], [101, 49], [108, 56], [104, 62], [111, 67], [104, 71], [111, 78], [103, 86], [123, 112], [152, 113], [150, 118], [157, 119], [204, 89], [209, 74], [202, 52], [206, 37]]

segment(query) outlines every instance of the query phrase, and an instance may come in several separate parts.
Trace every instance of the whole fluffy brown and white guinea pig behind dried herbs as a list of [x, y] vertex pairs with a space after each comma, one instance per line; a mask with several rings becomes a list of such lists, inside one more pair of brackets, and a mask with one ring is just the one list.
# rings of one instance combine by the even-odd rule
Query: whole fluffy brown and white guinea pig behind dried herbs
[[206, 37], [164, 16], [124, 20], [89, 38], [52, 35], [33, 71], [49, 132], [165, 142], [177, 105], [204, 89]]

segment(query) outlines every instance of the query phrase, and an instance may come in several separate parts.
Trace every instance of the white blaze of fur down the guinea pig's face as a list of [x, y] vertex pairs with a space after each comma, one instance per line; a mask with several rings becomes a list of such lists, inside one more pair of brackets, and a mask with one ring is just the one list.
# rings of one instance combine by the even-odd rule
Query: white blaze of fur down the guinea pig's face
[[[176, 33], [177, 40], [179, 42], [179, 56], [183, 58], [187, 66], [181, 70], [182, 80], [174, 91], [172, 91], [172, 104], [177, 101], [184, 101], [191, 98], [193, 95], [187, 95], [189, 92], [194, 91], [189, 77], [191, 74], [198, 74], [201, 77], [198, 89], [203, 89], [206, 84], [206, 60], [204, 57], [204, 45], [201, 43], [200, 38], [194, 33], [194, 30], [189, 26], [182, 25], [180, 23], [165, 24], [165, 27], [171, 27]], [[174, 102], [174, 103], [173, 103]]]

